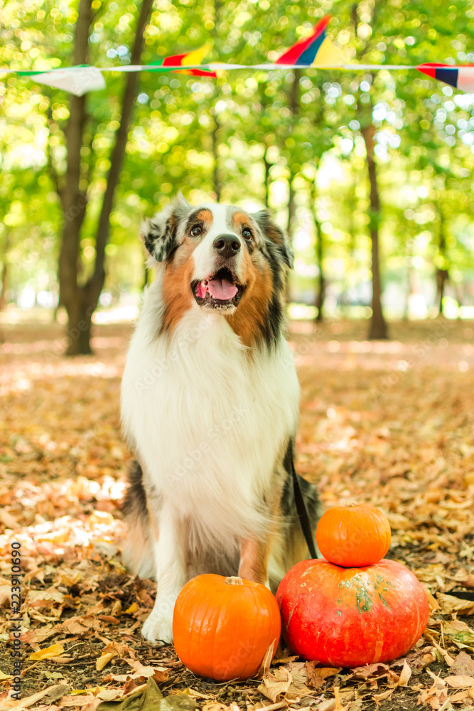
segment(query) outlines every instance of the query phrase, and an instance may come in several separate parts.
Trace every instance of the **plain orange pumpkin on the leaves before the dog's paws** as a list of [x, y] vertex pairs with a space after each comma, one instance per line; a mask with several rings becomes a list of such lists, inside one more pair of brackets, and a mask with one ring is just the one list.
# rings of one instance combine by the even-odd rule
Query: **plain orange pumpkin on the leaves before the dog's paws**
[[257, 674], [281, 634], [280, 611], [268, 588], [239, 577], [198, 575], [185, 584], [173, 614], [173, 641], [183, 664], [217, 681]]

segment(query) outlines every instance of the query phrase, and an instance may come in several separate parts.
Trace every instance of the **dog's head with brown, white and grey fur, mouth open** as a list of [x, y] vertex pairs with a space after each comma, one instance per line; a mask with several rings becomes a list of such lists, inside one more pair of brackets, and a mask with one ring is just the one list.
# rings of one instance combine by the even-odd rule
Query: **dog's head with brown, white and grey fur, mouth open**
[[[142, 234], [151, 257], [165, 262], [163, 298], [175, 314], [173, 321], [193, 300], [202, 309], [232, 317], [233, 327], [247, 316], [265, 330], [271, 314], [280, 314], [293, 254], [266, 210], [251, 214], [214, 203], [192, 208], [178, 196], [145, 221]], [[178, 310], [172, 303], [176, 299]]]

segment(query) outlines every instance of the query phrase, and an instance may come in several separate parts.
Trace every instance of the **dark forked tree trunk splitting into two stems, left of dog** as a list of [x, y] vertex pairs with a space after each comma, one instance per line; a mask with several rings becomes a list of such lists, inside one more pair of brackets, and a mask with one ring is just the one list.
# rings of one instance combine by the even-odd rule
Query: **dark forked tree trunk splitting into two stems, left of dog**
[[[136, 27], [134, 47], [131, 51], [131, 64], [141, 63], [141, 50], [144, 43], [144, 31], [151, 14], [153, 0], [143, 0]], [[87, 63], [87, 43], [91, 23], [91, 0], [80, 0], [79, 14], [75, 32], [74, 63]], [[115, 134], [114, 147], [110, 158], [99, 223], [95, 235], [95, 264], [92, 276], [80, 286], [77, 283], [77, 261], [80, 245], [80, 229], [85, 216], [87, 198], [79, 189], [80, 185], [80, 149], [86, 118], [85, 96], [71, 97], [70, 119], [66, 131], [68, 149], [68, 168], [63, 189], [64, 228], [60, 252], [60, 292], [61, 301], [68, 311], [68, 355], [88, 354], [90, 331], [94, 313], [105, 279], [105, 247], [109, 239], [109, 218], [114, 204], [114, 193], [119, 183], [120, 172], [126, 149], [131, 112], [136, 96], [138, 74], [126, 75], [124, 95], [122, 97], [122, 116]]]

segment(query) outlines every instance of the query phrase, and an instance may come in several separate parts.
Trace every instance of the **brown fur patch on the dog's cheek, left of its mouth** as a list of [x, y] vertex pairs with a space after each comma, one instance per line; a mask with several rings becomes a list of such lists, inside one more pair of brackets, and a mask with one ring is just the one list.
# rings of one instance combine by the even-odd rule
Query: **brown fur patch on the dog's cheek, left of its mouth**
[[173, 331], [185, 312], [193, 306], [193, 292], [191, 292], [189, 285], [194, 271], [194, 246], [188, 237], [185, 237], [174, 259], [166, 265], [166, 272], [163, 277], [165, 314], [161, 333], [163, 331]]

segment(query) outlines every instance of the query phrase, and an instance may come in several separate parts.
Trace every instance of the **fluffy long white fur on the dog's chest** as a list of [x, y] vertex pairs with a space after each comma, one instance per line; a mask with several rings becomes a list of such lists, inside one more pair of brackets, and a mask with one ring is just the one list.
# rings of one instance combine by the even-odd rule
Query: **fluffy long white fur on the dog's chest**
[[171, 338], [153, 338], [151, 296], [122, 381], [122, 424], [145, 485], [206, 538], [248, 535], [263, 524], [256, 498], [296, 431], [289, 346], [282, 339], [273, 353], [252, 355], [222, 315], [197, 304]]

